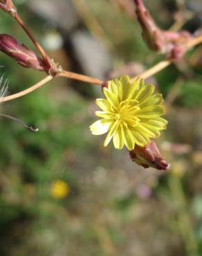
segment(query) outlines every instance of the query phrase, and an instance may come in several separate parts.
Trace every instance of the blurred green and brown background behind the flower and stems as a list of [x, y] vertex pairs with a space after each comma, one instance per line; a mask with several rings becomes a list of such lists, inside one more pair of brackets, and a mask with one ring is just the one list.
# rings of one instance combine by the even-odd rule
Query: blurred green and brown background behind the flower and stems
[[[55, 62], [102, 79], [163, 60], [145, 46], [132, 2], [15, 1]], [[163, 29], [202, 26], [201, 0], [144, 2]], [[33, 48], [2, 11], [0, 28]], [[126, 149], [104, 148], [102, 136], [91, 136], [102, 95], [95, 86], [56, 78], [1, 104], [39, 132], [1, 118], [0, 255], [202, 255], [201, 53], [199, 46], [150, 79], [167, 106], [169, 125], [157, 143], [168, 172], [144, 170]], [[10, 94], [44, 77], [3, 53], [0, 65]]]

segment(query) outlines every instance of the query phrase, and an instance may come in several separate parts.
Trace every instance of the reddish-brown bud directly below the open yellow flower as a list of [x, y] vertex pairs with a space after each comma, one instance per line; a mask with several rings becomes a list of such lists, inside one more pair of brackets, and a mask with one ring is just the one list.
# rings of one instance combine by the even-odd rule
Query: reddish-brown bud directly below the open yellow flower
[[156, 143], [152, 141], [145, 147], [136, 146], [129, 152], [132, 161], [145, 168], [154, 167], [158, 170], [169, 169], [169, 164], [161, 156]]

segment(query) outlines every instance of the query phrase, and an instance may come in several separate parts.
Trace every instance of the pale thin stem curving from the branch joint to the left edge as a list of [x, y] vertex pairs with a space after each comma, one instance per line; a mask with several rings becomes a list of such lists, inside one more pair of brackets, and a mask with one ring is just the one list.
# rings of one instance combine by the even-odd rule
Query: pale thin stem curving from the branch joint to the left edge
[[43, 80], [41, 80], [40, 82], [38, 82], [37, 84], [31, 86], [30, 88], [21, 91], [19, 93], [15, 93], [6, 97], [1, 98], [0, 102], [6, 102], [9, 100], [14, 100], [16, 98], [20, 98], [28, 93], [31, 93], [32, 91], [35, 91], [37, 89], [39, 89], [39, 87], [41, 87], [42, 85], [46, 84], [47, 82], [49, 82], [50, 80], [52, 80], [53, 77], [51, 75], [48, 75], [47, 77], [45, 77]]

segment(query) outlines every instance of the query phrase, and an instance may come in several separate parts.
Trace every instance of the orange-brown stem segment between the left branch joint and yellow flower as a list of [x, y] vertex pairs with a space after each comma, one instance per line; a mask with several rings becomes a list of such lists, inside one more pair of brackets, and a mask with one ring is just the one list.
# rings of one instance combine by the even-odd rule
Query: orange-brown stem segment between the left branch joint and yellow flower
[[82, 81], [82, 82], [88, 82], [89, 84], [101, 85], [104, 82], [98, 78], [89, 77], [86, 75], [80, 75], [80, 74], [69, 72], [69, 71], [62, 71], [58, 73], [57, 76], [66, 77], [66, 78], [70, 78], [70, 79]]

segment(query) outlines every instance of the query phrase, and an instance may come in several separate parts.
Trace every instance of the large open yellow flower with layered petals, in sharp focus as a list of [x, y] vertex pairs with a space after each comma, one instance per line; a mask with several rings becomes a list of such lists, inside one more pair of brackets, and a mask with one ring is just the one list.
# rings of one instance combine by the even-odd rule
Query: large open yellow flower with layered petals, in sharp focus
[[127, 75], [109, 81], [108, 88], [103, 89], [106, 99], [96, 100], [102, 111], [95, 111], [95, 115], [102, 119], [91, 125], [92, 134], [108, 132], [104, 147], [113, 138], [116, 149], [126, 145], [129, 150], [135, 145], [143, 147], [150, 143], [150, 138], [160, 136], [167, 121], [160, 118], [165, 114], [163, 97], [153, 94], [154, 89], [154, 85], [145, 84], [140, 78], [131, 83]]

